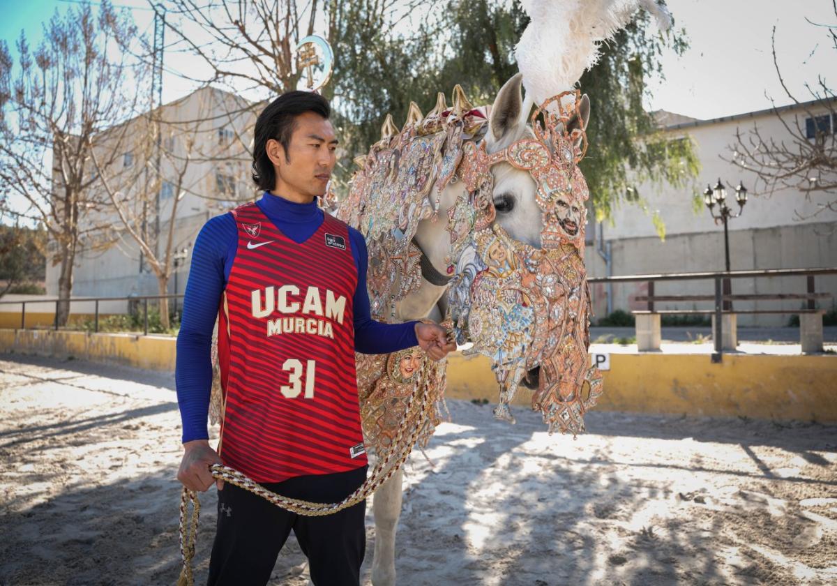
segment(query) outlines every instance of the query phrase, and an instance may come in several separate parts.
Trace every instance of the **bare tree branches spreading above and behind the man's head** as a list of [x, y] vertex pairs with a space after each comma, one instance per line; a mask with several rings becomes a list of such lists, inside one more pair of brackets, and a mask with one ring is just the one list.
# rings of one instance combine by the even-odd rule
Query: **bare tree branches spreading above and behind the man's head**
[[[416, 8], [422, 5], [424, 17], [418, 18]], [[167, 4], [167, 15], [172, 17], [167, 18], [167, 33], [172, 33], [175, 39], [173, 48], [197, 55], [209, 72], [202, 79], [189, 72], [177, 72], [178, 75], [203, 85], [221, 84], [239, 95], [252, 90], [259, 98], [272, 98], [294, 90], [301, 75], [296, 64], [297, 44], [312, 33], [324, 35], [336, 49], [335, 69], [331, 83], [321, 91], [326, 98], [333, 99], [337, 114], [335, 123], [341, 125], [346, 121], [347, 126], [351, 126], [358, 121], [358, 111], [369, 110], [366, 100], [369, 87], [380, 89], [373, 92], [376, 95], [387, 96], [393, 92], [387, 85], [381, 88], [383, 80], [371, 71], [393, 69], [393, 75], [388, 79], [395, 80], [395, 84], [401, 80], [404, 85], [415, 71], [410, 63], [429, 58], [424, 50], [416, 50], [415, 59], [403, 59], [403, 52], [396, 52], [397, 68], [396, 63], [388, 62], [393, 52], [382, 50], [382, 47], [402, 47], [411, 41], [412, 35], [425, 41], [433, 34], [438, 35], [443, 19], [430, 18], [432, 14], [432, 9], [420, 0], [357, 3], [342, 0], [308, 0], [306, 3], [295, 0], [209, 0], [206, 3], [172, 0]], [[413, 17], [419, 23], [404, 27], [411, 29], [409, 34], [392, 32]], [[439, 20], [432, 33], [427, 24], [429, 20]], [[338, 87], [341, 90], [338, 91]], [[358, 95], [357, 87], [364, 88], [365, 93]], [[395, 101], [403, 101], [406, 112], [409, 100]], [[264, 105], [263, 101], [256, 101], [244, 107], [255, 115]], [[385, 113], [381, 113], [382, 118]], [[228, 113], [234, 114], [237, 112]], [[377, 132], [380, 122], [376, 119], [370, 124]], [[238, 138], [249, 150], [252, 127], [244, 130], [246, 134]], [[349, 143], [362, 143], [362, 149], [371, 143], [367, 134], [352, 140], [353, 133], [348, 127], [343, 129], [343, 135]], [[352, 168], [348, 167], [352, 167], [353, 156], [350, 146], [338, 162], [340, 172], [336, 180], [351, 175]]]

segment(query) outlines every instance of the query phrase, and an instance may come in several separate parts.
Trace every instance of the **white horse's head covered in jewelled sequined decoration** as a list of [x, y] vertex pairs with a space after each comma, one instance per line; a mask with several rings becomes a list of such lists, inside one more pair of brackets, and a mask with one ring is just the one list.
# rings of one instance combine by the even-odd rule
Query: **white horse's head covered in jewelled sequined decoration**
[[460, 175], [475, 220], [454, 253], [449, 298], [460, 342], [492, 360], [501, 384], [496, 416], [513, 420], [508, 405], [523, 383], [537, 387], [532, 406], [550, 430], [576, 434], [600, 393], [587, 363], [588, 188], [578, 167], [589, 100], [578, 91], [552, 96], [527, 125], [530, 109], [517, 75], [496, 97], [485, 140], [464, 146]]

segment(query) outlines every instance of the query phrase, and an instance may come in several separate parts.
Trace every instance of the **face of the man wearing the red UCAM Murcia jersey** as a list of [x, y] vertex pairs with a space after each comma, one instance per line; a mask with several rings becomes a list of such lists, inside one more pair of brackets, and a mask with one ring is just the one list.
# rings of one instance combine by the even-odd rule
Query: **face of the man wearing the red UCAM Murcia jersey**
[[279, 141], [268, 141], [267, 148], [277, 166], [276, 193], [306, 198], [326, 193], [337, 148], [331, 121], [314, 112], [300, 114], [295, 118], [287, 157]]

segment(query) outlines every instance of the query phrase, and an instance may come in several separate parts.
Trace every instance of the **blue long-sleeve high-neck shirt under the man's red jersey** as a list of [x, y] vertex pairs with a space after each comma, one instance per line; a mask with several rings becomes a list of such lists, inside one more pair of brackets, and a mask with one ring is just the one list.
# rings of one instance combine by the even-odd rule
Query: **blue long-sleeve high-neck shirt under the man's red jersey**
[[[268, 192], [256, 202], [264, 215], [291, 240], [304, 242], [323, 221], [316, 200], [293, 203]], [[415, 321], [384, 324], [372, 320], [367, 293], [367, 247], [356, 229], [349, 228], [352, 257], [357, 267], [353, 297], [355, 350], [385, 354], [416, 346]], [[177, 404], [183, 424], [183, 443], [208, 439], [207, 417], [212, 387], [210, 349], [218, 305], [238, 249], [238, 229], [230, 213], [203, 225], [192, 252], [192, 266], [183, 297], [183, 317], [177, 336]]]

